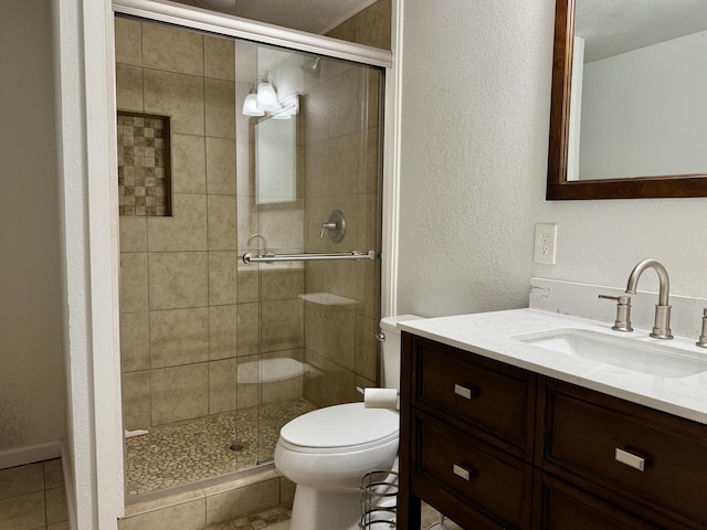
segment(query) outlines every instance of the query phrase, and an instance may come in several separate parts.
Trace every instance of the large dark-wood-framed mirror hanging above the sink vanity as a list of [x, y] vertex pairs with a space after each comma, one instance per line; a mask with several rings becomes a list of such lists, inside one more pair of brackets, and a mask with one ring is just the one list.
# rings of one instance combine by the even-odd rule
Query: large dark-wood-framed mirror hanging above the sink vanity
[[701, 0], [557, 0], [548, 200], [707, 197], [706, 30]]

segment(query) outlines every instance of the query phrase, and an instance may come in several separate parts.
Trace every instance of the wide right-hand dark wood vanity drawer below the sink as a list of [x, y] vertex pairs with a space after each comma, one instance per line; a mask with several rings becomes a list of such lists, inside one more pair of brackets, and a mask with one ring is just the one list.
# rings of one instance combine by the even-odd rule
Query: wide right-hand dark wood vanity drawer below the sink
[[541, 401], [544, 469], [707, 524], [707, 426], [553, 380]]

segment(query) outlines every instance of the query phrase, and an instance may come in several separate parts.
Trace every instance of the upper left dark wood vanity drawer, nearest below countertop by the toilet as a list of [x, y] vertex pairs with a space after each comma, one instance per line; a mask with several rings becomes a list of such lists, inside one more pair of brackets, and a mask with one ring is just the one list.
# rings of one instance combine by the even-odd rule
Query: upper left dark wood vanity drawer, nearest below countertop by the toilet
[[[481, 356], [413, 338], [414, 406], [469, 424], [489, 443], [529, 458], [535, 375]], [[494, 439], [490, 439], [494, 438]]]

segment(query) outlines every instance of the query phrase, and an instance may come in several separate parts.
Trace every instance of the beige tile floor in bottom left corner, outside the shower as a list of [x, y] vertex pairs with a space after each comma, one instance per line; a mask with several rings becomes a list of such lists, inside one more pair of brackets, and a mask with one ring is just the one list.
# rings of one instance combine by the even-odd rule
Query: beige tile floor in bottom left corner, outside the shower
[[62, 460], [0, 470], [0, 530], [68, 530]]

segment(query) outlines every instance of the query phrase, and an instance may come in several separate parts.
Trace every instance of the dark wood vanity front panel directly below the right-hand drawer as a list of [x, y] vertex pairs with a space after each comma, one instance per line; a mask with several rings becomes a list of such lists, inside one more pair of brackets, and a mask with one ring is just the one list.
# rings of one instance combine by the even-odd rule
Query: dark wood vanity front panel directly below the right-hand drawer
[[541, 530], [657, 530], [648, 521], [542, 474], [535, 528]]

